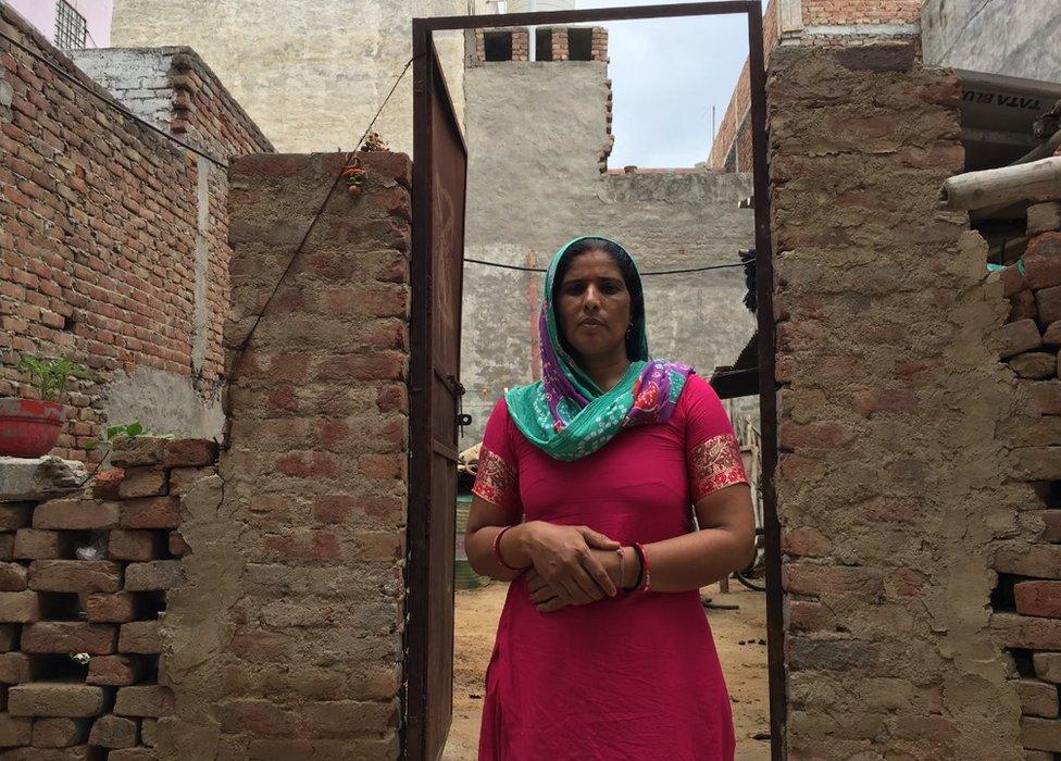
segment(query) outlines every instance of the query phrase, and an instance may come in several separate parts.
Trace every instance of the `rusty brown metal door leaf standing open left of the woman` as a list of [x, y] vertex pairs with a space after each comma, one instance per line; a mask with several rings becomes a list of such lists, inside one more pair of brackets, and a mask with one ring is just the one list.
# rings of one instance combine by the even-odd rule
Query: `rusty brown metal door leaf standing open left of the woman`
[[407, 759], [437, 759], [453, 708], [453, 550], [467, 150], [430, 33], [413, 23]]

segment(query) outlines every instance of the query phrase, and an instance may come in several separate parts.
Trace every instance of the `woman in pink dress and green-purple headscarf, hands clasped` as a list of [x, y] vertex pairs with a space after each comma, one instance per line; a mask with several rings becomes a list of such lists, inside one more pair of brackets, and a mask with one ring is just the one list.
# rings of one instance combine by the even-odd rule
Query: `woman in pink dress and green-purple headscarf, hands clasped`
[[621, 246], [566, 244], [545, 295], [544, 379], [490, 415], [465, 537], [478, 573], [512, 581], [479, 758], [732, 759], [698, 591], [753, 552], [729, 421], [689, 367], [648, 361]]

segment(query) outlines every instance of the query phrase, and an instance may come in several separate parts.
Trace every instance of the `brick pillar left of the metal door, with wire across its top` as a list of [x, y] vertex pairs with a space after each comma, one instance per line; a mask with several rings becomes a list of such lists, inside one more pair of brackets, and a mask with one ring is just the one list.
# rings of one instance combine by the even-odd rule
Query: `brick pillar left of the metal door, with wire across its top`
[[[339, 154], [230, 166], [233, 320], [223, 512], [242, 573], [227, 609], [225, 758], [394, 758], [405, 536], [409, 185], [366, 153], [247, 337], [342, 169]], [[211, 757], [212, 758], [212, 757]]]

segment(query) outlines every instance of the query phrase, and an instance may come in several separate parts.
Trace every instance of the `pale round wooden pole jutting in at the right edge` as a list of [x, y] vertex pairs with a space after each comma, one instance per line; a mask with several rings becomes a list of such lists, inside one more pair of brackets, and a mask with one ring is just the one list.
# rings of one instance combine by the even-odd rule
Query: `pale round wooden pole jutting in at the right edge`
[[1061, 198], [1061, 157], [954, 175], [939, 190], [940, 207], [953, 211], [1058, 198]]

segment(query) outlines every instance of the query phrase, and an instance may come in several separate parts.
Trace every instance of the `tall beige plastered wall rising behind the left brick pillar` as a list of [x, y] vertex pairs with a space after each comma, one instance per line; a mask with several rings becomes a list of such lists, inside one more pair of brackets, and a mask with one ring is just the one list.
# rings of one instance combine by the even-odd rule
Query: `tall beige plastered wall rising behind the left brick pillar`
[[[350, 150], [412, 55], [411, 20], [459, 15], [465, 0], [116, 0], [120, 47], [188, 45], [221, 75], [277, 150]], [[436, 47], [460, 111], [464, 39]], [[376, 122], [412, 150], [412, 73]]]

